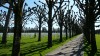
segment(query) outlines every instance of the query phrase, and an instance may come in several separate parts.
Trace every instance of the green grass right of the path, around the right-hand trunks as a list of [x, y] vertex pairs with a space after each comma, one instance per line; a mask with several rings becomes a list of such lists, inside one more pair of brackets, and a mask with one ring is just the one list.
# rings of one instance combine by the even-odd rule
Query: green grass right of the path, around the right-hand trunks
[[[94, 56], [100, 56], [100, 34], [96, 34], [97, 52]], [[85, 43], [84, 56], [90, 55], [91, 46]]]

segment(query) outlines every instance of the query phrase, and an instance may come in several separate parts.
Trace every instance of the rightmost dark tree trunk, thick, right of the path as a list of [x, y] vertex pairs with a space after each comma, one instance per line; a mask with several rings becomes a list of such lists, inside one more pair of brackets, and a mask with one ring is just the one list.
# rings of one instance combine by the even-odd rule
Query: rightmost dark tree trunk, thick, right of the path
[[[94, 8], [95, 8], [95, 0], [89, 0], [90, 2], [90, 8], [89, 8], [89, 15], [90, 15], [90, 32], [91, 32], [91, 48], [92, 51], [96, 52], [97, 51], [97, 46], [96, 46], [96, 40], [95, 40], [95, 13], [94, 13]], [[92, 17], [91, 17], [92, 16]]]

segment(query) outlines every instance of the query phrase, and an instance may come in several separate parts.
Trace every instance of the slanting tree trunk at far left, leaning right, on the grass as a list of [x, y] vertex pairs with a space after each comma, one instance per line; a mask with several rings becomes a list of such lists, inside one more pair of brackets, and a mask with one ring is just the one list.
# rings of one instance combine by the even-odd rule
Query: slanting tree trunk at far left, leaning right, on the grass
[[[11, 5], [9, 5], [9, 8], [11, 8]], [[8, 9], [8, 14], [6, 16], [6, 21], [3, 29], [3, 36], [2, 36], [2, 44], [6, 44], [7, 42], [7, 32], [8, 32], [8, 25], [9, 25], [9, 20], [10, 20], [10, 14], [11, 14], [11, 9]]]

